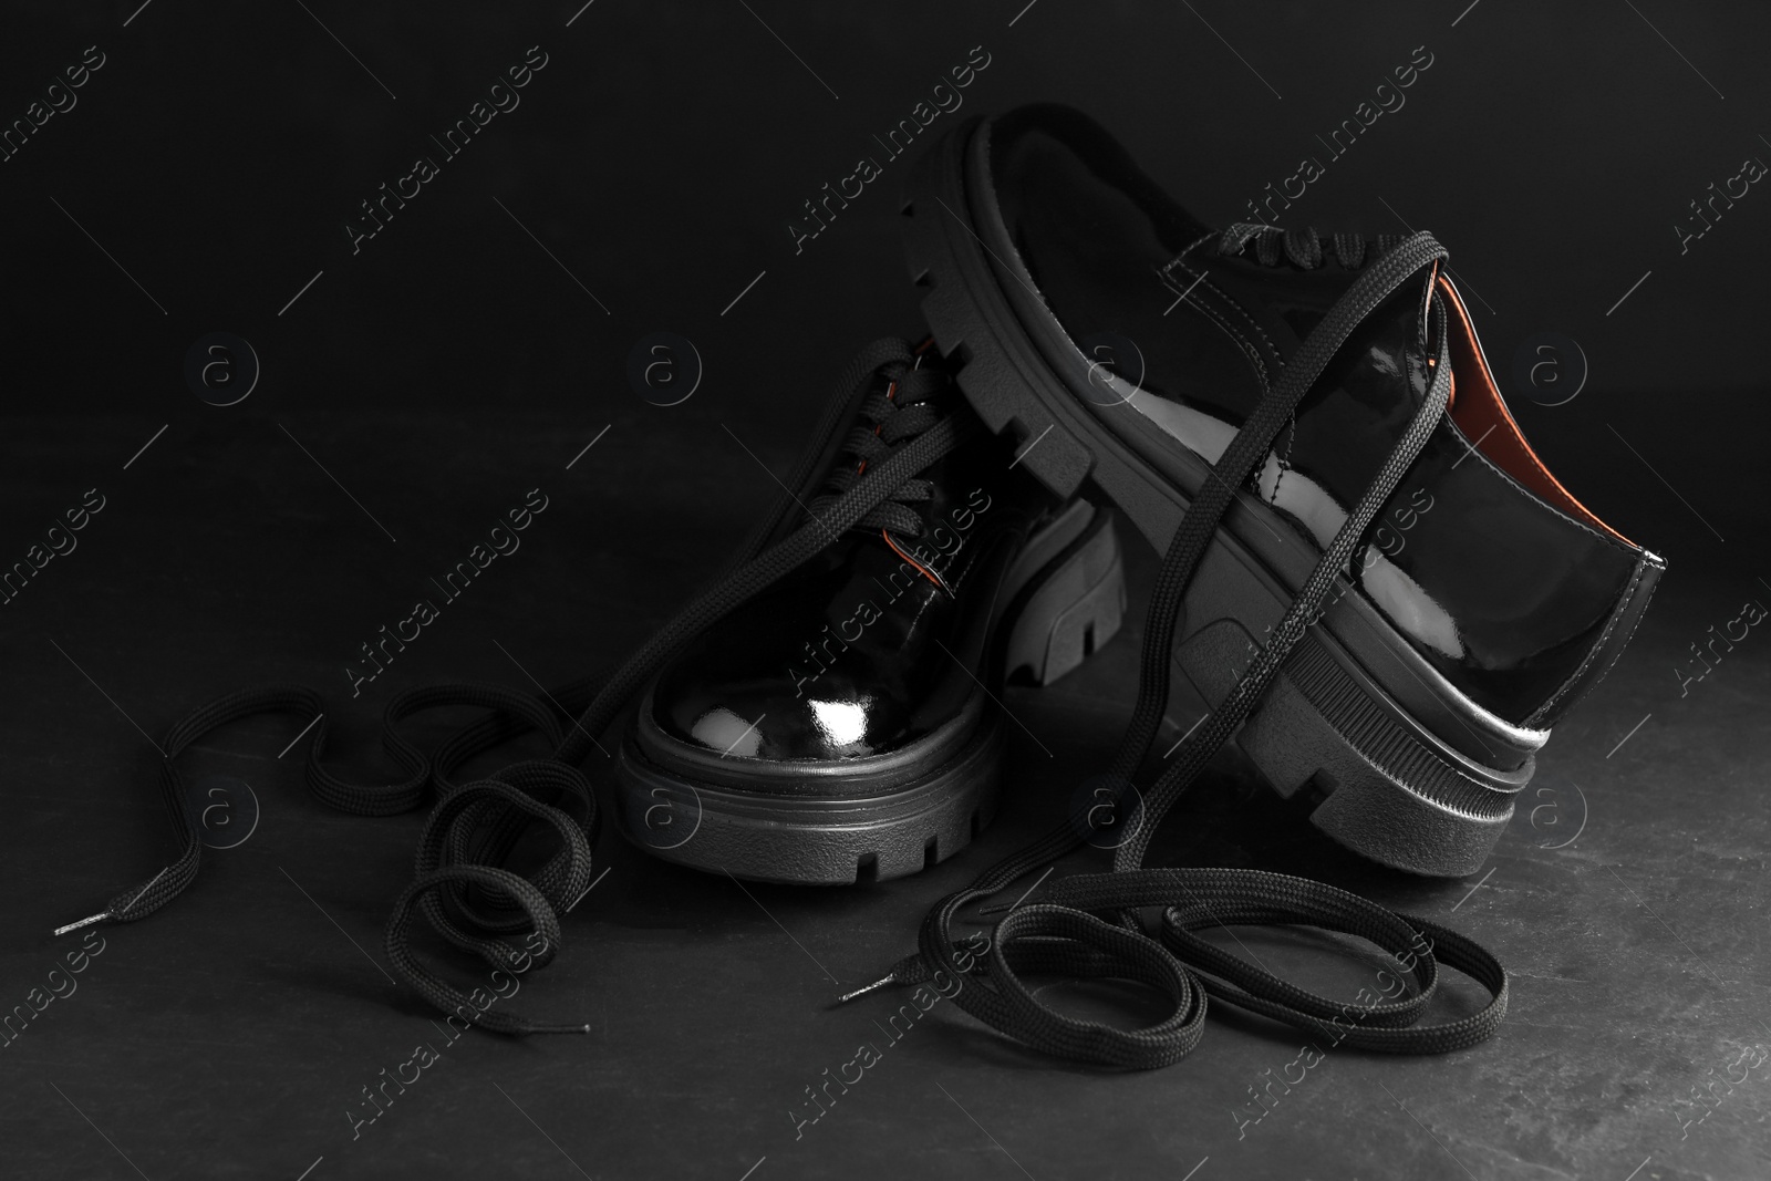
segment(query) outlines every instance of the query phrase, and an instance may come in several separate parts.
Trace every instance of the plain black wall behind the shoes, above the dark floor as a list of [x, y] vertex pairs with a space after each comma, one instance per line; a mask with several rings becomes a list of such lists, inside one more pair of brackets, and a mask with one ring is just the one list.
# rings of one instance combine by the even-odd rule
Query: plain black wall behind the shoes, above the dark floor
[[[1075, 103], [1211, 223], [1326, 156], [1316, 136], [1426, 46], [1433, 66], [1406, 104], [1288, 218], [1431, 228], [1504, 374], [1537, 333], [1576, 340], [1583, 395], [1520, 413], [1601, 510], [1635, 508], [1647, 460], [1721, 535], [1718, 517], [1757, 512], [1725, 480], [1752, 466], [1766, 425], [1752, 343], [1771, 310], [1753, 282], [1771, 218], [1755, 186], [1684, 253], [1674, 227], [1744, 158], [1771, 159], [1771, 12], [1041, 0], [1008, 27], [1002, 7], [599, 0], [570, 28], [570, 4], [151, 4], [128, 28], [128, 4], [14, 14], [7, 120], [85, 46], [106, 66], [0, 165], [7, 409], [223, 432], [283, 421], [299, 437], [298, 423], [336, 411], [498, 407], [630, 423], [675, 444], [661, 476], [723, 446], [721, 421], [792, 450], [859, 342], [917, 331], [894, 218], [903, 161], [802, 253], [788, 221], [972, 46], [992, 64], [935, 129]], [[430, 136], [533, 44], [549, 66], [521, 106], [352, 255], [344, 225], [360, 202], [436, 156]], [[659, 329], [707, 367], [669, 413], [636, 405], [625, 381], [630, 347]], [[227, 413], [182, 379], [211, 331], [244, 336], [264, 367]]]

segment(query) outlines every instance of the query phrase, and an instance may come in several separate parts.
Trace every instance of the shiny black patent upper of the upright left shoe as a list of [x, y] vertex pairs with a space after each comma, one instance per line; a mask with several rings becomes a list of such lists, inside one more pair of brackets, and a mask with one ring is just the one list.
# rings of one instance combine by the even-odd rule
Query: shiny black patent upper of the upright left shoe
[[[944, 413], [971, 414], [956, 393]], [[969, 738], [1011, 567], [1052, 513], [1011, 460], [969, 434], [921, 473], [893, 526], [848, 529], [701, 632], [641, 706], [646, 753], [737, 786], [827, 791], [827, 772], [866, 768], [878, 788], [900, 777], [894, 760], [909, 777]], [[836, 464], [859, 466], [852, 453]]]

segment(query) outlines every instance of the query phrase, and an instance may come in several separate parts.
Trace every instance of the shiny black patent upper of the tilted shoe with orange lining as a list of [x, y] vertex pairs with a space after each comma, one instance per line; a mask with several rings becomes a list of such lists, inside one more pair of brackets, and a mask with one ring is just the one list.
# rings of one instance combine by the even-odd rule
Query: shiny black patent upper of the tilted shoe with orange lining
[[[1206, 462], [1397, 241], [1208, 228], [1068, 108], [1022, 108], [986, 133], [988, 193], [1020, 266], [1116, 379], [1102, 388], [1119, 395], [1091, 397], [1093, 413], [1139, 416]], [[1254, 490], [1328, 544], [1424, 397], [1433, 301], [1447, 308], [1452, 407], [1365, 538], [1358, 591], [1470, 699], [1548, 728], [1615, 659], [1663, 563], [1532, 453], [1449, 276], [1422, 269], [1365, 319]]]

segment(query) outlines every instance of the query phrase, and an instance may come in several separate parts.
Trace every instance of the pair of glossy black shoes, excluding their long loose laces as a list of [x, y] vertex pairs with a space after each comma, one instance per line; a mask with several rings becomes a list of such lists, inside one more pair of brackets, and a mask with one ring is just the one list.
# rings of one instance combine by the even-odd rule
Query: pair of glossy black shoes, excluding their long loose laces
[[995, 807], [1004, 678], [1118, 630], [1123, 517], [1197, 549], [1165, 623], [1208, 705], [1277, 664], [1234, 729], [1273, 790], [1378, 862], [1481, 866], [1663, 563], [1532, 453], [1443, 250], [1204, 227], [1059, 106], [951, 133], [903, 212], [933, 340], [850, 375], [767, 540], [951, 443], [652, 682], [629, 838], [777, 882], [955, 853]]

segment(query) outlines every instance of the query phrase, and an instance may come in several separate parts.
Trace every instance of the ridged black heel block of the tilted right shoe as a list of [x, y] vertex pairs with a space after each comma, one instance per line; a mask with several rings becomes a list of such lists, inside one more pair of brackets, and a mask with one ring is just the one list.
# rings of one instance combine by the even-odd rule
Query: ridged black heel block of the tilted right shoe
[[[1316, 632], [1298, 641], [1236, 735], [1286, 799], [1318, 799], [1311, 823], [1396, 869], [1463, 876], [1488, 861], [1535, 761], [1495, 770], [1438, 740]], [[1213, 706], [1256, 652], [1234, 620], [1176, 646], [1176, 664]], [[1350, 668], [1351, 666], [1351, 668]]]

